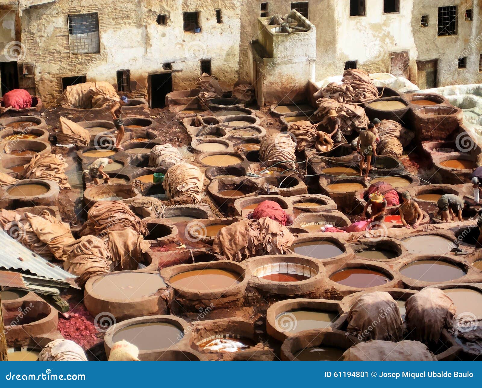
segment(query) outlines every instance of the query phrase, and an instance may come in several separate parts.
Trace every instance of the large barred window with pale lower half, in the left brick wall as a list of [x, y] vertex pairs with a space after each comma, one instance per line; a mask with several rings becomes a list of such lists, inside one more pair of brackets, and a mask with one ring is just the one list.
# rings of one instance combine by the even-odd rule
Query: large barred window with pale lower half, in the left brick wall
[[68, 15], [68, 37], [72, 54], [99, 53], [99, 14]]

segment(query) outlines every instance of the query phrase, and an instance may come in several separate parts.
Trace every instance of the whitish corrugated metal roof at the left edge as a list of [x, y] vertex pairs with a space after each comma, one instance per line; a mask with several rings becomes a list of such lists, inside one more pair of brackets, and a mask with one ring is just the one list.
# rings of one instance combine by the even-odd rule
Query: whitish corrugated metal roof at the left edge
[[67, 280], [76, 276], [49, 263], [0, 230], [0, 268], [29, 271], [47, 279]]

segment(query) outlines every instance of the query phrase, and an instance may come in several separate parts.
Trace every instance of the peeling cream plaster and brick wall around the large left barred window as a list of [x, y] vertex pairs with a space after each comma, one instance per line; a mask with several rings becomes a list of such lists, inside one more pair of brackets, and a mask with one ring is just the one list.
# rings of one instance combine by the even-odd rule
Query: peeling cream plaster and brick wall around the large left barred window
[[[223, 11], [216, 23], [215, 9]], [[185, 32], [184, 11], [200, 11], [201, 33]], [[99, 13], [100, 54], [70, 54], [67, 15]], [[167, 13], [167, 26], [156, 23]], [[174, 89], [188, 89], [200, 76], [200, 60], [212, 59], [213, 75], [226, 87], [238, 79], [240, 1], [59, 0], [25, 10], [22, 16], [26, 62], [35, 62], [37, 88], [44, 102], [61, 92], [61, 77], [85, 74], [88, 81], [116, 83], [116, 71], [130, 69], [133, 96], [146, 97], [148, 74], [175, 62]]]

